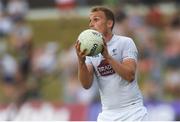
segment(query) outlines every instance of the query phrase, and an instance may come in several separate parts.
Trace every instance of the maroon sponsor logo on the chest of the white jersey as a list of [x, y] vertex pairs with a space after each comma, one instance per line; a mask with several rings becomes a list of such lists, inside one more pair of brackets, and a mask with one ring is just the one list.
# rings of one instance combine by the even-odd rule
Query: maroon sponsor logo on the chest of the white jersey
[[108, 76], [115, 73], [112, 66], [106, 60], [101, 61], [97, 67], [97, 70], [101, 76]]

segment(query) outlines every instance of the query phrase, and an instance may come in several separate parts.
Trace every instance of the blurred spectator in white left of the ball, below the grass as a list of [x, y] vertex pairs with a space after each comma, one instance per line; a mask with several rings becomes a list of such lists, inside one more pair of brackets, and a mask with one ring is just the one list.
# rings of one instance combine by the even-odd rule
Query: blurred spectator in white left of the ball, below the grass
[[34, 75], [42, 77], [56, 70], [57, 50], [58, 45], [55, 42], [48, 42], [44, 47], [34, 50], [32, 59]]

